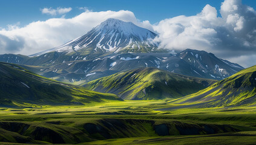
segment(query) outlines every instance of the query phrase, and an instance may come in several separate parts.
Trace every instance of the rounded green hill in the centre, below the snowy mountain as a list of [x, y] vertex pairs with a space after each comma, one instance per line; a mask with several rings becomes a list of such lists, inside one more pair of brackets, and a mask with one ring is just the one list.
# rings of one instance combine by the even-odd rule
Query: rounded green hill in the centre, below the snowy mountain
[[138, 68], [93, 80], [84, 86], [94, 91], [116, 94], [122, 99], [159, 100], [183, 97], [215, 82], [157, 68]]

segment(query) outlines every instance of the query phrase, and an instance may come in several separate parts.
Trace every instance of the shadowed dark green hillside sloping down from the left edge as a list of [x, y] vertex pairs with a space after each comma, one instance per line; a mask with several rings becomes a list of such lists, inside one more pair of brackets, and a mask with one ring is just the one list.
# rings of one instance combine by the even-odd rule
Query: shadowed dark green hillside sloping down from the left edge
[[0, 63], [0, 82], [0, 106], [82, 105], [120, 100], [114, 94], [56, 82], [11, 63]]

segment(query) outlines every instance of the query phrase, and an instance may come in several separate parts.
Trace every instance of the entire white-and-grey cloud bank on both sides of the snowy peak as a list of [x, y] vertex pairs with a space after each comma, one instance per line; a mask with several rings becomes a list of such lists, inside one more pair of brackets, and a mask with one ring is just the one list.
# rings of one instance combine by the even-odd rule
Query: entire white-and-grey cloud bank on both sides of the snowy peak
[[[62, 10], [63, 9], [63, 10]], [[42, 13], [57, 15], [70, 11], [65, 8], [42, 9]], [[44, 12], [43, 12], [44, 11]], [[74, 18], [54, 18], [31, 22], [25, 27], [9, 25], [0, 30], [0, 53], [33, 54], [56, 47], [82, 36], [108, 18], [130, 21], [159, 34], [161, 48], [205, 50], [217, 57], [243, 66], [256, 65], [256, 11], [241, 0], [225, 0], [221, 16], [211, 5], [194, 16], [177, 16], [150, 24], [140, 21], [132, 11], [99, 11], [85, 9]]]

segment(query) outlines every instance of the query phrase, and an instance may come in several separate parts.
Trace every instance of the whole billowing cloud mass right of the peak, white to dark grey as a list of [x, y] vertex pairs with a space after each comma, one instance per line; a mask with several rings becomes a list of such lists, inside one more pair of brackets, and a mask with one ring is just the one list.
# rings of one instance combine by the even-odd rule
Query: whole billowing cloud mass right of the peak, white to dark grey
[[[163, 48], [205, 50], [236, 63], [245, 62], [246, 56], [247, 60], [252, 60], [251, 54], [256, 54], [254, 8], [243, 5], [241, 0], [225, 0], [222, 2], [220, 14], [217, 17], [217, 10], [206, 5], [195, 16], [164, 19], [153, 26], [159, 33], [156, 41]], [[251, 65], [256, 63], [243, 63], [243, 66]]]

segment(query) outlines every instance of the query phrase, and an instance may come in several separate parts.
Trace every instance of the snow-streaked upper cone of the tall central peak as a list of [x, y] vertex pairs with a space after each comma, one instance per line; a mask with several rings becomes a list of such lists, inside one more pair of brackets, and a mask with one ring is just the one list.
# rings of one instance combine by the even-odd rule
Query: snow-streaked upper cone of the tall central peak
[[[80, 53], [141, 53], [151, 52], [157, 49], [157, 43], [153, 39], [157, 34], [145, 28], [138, 27], [132, 22], [123, 22], [119, 19], [107, 19], [97, 27], [88, 31], [82, 37], [71, 40], [50, 51], [80, 52]], [[35, 54], [40, 55], [42, 53]]]

